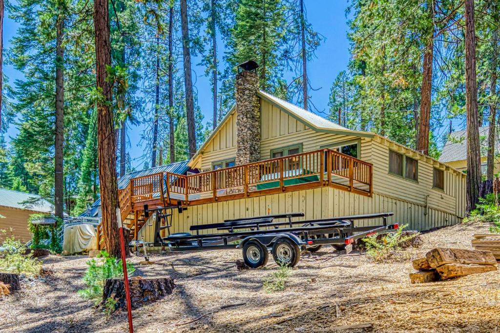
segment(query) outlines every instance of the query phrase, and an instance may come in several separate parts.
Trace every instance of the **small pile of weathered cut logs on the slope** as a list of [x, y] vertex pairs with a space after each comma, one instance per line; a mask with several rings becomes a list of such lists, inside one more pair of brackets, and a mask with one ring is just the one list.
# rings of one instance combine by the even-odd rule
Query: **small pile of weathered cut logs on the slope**
[[435, 248], [425, 257], [412, 262], [416, 272], [410, 282], [427, 283], [458, 278], [477, 273], [496, 271], [496, 258], [491, 251]]

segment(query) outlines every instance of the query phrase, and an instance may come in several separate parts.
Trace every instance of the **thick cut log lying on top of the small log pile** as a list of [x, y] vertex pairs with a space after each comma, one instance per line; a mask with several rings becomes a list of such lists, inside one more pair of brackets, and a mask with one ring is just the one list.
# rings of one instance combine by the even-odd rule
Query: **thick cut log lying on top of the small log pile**
[[446, 264], [496, 265], [496, 259], [489, 251], [435, 248], [425, 255], [430, 267]]

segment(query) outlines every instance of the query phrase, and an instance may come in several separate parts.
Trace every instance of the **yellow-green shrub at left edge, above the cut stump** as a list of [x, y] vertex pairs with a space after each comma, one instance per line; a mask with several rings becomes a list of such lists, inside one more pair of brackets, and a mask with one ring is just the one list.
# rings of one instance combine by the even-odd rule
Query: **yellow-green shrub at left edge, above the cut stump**
[[[5, 231], [1, 230], [4, 234]], [[0, 272], [25, 274], [36, 276], [40, 272], [41, 262], [32, 258], [31, 254], [23, 255], [26, 247], [14, 237], [7, 237], [3, 241], [0, 252]]]

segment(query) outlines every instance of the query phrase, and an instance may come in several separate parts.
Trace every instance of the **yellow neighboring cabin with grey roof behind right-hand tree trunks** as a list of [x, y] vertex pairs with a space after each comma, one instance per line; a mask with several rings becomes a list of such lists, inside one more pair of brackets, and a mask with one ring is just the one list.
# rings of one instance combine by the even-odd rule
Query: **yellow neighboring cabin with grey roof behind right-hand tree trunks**
[[[481, 174], [486, 175], [486, 156], [488, 147], [488, 132], [489, 126], [479, 127], [479, 144], [481, 147]], [[498, 140], [495, 142], [495, 155], [500, 152], [500, 144]], [[439, 162], [455, 168], [458, 171], [465, 172], [467, 170], [467, 131], [455, 131], [449, 133], [446, 144], [442, 148]], [[500, 173], [500, 158], [495, 156], [493, 163], [493, 174]]]

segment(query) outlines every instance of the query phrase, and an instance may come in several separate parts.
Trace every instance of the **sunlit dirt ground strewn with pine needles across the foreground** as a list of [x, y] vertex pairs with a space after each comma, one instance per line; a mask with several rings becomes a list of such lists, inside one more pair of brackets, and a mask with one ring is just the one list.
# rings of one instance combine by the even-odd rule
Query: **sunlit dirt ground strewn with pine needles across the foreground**
[[[409, 253], [413, 259], [437, 246], [470, 248], [472, 234], [484, 232], [484, 225], [456, 225], [425, 233], [423, 246]], [[323, 247], [301, 257], [283, 291], [266, 293], [262, 284], [276, 265], [270, 259], [264, 269], [238, 271], [240, 258], [240, 250], [170, 253], [136, 265], [134, 276], [171, 276], [176, 287], [132, 312], [135, 332], [338, 332], [332, 328], [361, 323], [372, 328], [343, 332], [500, 332], [497, 271], [411, 285], [410, 260], [373, 264], [359, 252]], [[0, 299], [0, 332], [126, 332], [126, 312], [106, 319], [76, 295], [87, 260], [45, 258], [52, 276]]]

